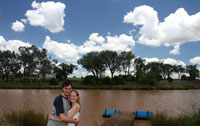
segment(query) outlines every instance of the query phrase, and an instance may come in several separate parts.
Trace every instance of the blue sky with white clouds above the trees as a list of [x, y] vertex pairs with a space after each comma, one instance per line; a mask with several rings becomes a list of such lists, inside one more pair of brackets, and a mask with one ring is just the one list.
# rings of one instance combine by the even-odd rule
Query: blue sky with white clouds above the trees
[[[0, 50], [45, 48], [77, 64], [91, 51], [200, 68], [199, 0], [0, 0]], [[85, 76], [78, 65], [72, 76]], [[109, 71], [106, 71], [109, 75]]]

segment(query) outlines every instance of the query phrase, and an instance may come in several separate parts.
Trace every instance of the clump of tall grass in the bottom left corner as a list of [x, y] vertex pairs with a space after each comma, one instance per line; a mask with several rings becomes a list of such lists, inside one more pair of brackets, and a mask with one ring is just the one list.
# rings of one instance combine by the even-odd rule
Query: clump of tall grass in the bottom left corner
[[1, 126], [46, 126], [47, 116], [34, 110], [12, 111], [4, 114]]

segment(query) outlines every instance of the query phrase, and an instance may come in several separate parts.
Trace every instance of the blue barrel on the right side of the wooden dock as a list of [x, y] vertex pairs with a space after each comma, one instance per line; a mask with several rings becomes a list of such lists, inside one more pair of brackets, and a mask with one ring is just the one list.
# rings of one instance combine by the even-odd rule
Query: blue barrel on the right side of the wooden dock
[[151, 111], [136, 111], [136, 119], [151, 119], [152, 116]]

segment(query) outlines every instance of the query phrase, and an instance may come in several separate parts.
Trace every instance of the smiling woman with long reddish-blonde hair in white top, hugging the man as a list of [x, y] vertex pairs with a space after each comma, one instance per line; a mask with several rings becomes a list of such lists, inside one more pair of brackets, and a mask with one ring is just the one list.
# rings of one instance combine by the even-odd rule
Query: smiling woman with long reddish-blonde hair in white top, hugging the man
[[[73, 119], [79, 120], [80, 116], [80, 96], [78, 91], [72, 90], [70, 93], [70, 103], [72, 108], [68, 111], [67, 116]], [[61, 121], [60, 119], [54, 117], [53, 115], [49, 115], [50, 120]], [[75, 126], [75, 123], [66, 123], [66, 126]]]

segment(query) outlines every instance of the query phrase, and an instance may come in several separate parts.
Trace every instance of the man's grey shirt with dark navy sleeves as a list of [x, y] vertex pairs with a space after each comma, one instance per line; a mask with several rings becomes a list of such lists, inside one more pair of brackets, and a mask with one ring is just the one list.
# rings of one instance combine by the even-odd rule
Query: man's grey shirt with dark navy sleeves
[[[53, 107], [52, 107], [52, 115], [54, 117], [59, 118], [59, 114], [61, 113], [64, 113], [65, 115], [67, 115], [68, 111], [71, 108], [71, 105], [68, 99], [64, 98], [62, 95], [59, 95], [55, 98]], [[47, 126], [65, 126], [65, 122], [48, 120]]]

